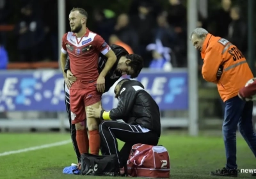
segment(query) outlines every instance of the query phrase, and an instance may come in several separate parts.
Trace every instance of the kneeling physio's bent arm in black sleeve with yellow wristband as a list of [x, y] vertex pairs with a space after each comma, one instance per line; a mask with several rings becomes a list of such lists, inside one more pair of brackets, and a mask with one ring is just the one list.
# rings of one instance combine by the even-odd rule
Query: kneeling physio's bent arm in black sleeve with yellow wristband
[[121, 120], [127, 118], [136, 98], [136, 91], [133, 88], [122, 88], [120, 99], [116, 108], [111, 111], [102, 110], [100, 113], [101, 120]]

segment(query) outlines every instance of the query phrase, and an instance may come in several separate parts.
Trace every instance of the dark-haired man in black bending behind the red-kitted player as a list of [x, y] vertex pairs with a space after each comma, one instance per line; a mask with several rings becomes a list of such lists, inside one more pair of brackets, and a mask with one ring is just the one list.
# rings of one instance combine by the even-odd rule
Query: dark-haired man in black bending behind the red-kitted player
[[[129, 54], [124, 47], [121, 47], [119, 45], [110, 45], [113, 52], [116, 54], [116, 63], [113, 65], [111, 70], [109, 71], [108, 75], [105, 77], [105, 91], [109, 91], [109, 88], [115, 84], [118, 79], [122, 75], [131, 75], [131, 78], [138, 77], [140, 74], [141, 69], [143, 68], [143, 58], [139, 56], [138, 54]], [[104, 68], [106, 64], [107, 58], [105, 56], [100, 55], [99, 57], [99, 74]], [[70, 72], [70, 61], [69, 58], [67, 58], [66, 66], [65, 66], [65, 72], [67, 74], [72, 74]], [[70, 79], [70, 80], [68, 80]], [[74, 80], [73, 80], [74, 79]], [[68, 81], [68, 82], [67, 82]], [[77, 155], [77, 160], [80, 162], [80, 153], [77, 148], [77, 142], [76, 142], [76, 128], [74, 127], [74, 124], [71, 123], [71, 114], [70, 114], [70, 104], [69, 104], [69, 88], [72, 85], [72, 82], [76, 81], [76, 77], [68, 75], [68, 78], [66, 79], [65, 84], [65, 105], [68, 113], [68, 120], [70, 123], [70, 133], [71, 133], [71, 139], [74, 146], [74, 150]], [[88, 137], [88, 136], [86, 136]]]

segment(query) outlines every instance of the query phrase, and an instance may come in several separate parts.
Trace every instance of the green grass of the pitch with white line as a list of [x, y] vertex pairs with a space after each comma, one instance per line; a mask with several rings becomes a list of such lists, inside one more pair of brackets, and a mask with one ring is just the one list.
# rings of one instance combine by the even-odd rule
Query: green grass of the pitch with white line
[[[69, 134], [0, 134], [0, 153], [67, 139], [70, 139]], [[218, 178], [209, 176], [209, 172], [225, 166], [225, 150], [221, 136], [188, 137], [165, 134], [159, 144], [163, 144], [170, 155], [170, 178]], [[72, 162], [76, 163], [72, 143], [0, 156], [0, 178], [111, 178], [64, 175], [63, 168], [70, 166]], [[237, 164], [239, 168], [256, 167], [255, 157], [241, 137], [237, 139]], [[252, 176], [249, 173], [240, 173], [238, 178]]]

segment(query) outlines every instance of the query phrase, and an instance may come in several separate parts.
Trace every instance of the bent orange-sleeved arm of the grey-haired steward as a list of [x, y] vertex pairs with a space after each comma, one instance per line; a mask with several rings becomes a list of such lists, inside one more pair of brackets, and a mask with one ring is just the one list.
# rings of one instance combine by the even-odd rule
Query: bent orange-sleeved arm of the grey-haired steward
[[205, 81], [217, 83], [217, 72], [221, 65], [222, 56], [214, 48], [209, 48], [205, 52], [204, 65], [202, 67], [202, 75]]

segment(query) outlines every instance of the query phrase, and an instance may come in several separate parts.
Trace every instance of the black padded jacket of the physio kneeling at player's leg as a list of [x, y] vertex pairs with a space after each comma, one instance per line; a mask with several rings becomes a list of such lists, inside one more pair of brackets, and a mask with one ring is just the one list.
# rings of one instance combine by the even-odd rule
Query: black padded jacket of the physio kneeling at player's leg
[[[156, 101], [145, 91], [139, 81], [125, 81], [119, 91], [115, 109], [109, 111], [111, 120], [124, 120], [131, 125], [140, 125], [161, 135], [160, 112]], [[102, 111], [103, 113], [104, 111]], [[102, 115], [101, 115], [102, 117]]]

